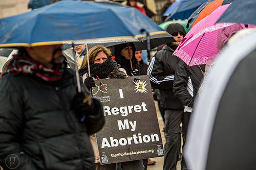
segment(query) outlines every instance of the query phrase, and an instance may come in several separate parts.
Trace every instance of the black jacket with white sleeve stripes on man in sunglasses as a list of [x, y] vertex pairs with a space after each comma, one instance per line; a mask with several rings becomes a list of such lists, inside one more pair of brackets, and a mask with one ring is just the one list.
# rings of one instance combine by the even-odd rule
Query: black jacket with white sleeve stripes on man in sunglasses
[[160, 103], [163, 109], [183, 110], [179, 98], [173, 93], [173, 82], [176, 66], [180, 59], [173, 56], [174, 50], [165, 45], [151, 59], [147, 73], [153, 88], [160, 91]]

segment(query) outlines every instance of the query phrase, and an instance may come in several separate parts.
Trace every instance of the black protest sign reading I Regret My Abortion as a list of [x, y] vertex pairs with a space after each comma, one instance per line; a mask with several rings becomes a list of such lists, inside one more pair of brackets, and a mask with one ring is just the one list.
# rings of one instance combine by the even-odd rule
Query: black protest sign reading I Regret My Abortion
[[101, 164], [163, 156], [148, 76], [95, 81], [93, 97], [103, 105], [106, 123], [97, 134]]

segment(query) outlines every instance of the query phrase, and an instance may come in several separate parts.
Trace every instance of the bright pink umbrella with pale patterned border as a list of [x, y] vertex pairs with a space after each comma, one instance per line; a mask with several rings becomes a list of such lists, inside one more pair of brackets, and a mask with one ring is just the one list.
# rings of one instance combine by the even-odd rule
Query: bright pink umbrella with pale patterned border
[[218, 30], [234, 25], [234, 23], [216, 23], [229, 5], [217, 8], [199, 21], [182, 39], [174, 55], [181, 58], [188, 66], [206, 64], [210, 58], [215, 57], [219, 53]]

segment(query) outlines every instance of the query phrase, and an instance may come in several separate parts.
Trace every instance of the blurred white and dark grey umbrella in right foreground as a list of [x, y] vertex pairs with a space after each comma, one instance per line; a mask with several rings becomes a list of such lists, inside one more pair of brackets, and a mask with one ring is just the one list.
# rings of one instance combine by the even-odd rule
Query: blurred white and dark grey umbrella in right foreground
[[254, 31], [226, 46], [196, 102], [184, 149], [192, 170], [256, 165], [255, 37]]

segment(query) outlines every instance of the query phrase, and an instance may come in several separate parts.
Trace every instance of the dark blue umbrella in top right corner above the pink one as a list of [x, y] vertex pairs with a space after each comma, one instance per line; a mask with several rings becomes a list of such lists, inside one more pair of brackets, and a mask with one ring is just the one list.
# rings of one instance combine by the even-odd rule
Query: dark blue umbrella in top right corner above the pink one
[[247, 23], [256, 25], [256, 1], [234, 1], [217, 22]]

